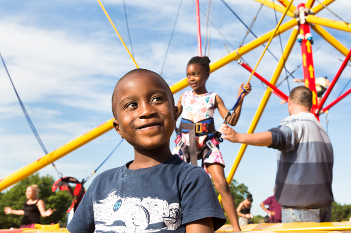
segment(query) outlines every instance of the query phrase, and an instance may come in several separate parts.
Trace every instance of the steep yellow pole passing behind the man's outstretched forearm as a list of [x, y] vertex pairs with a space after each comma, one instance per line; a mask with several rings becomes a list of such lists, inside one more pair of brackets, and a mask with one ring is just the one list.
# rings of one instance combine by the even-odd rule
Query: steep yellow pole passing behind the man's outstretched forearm
[[[284, 52], [283, 52], [283, 56], [279, 59], [278, 65], [277, 65], [277, 67], [275, 69], [275, 72], [272, 75], [272, 78], [270, 79], [270, 83], [272, 83], [273, 85], [276, 84], [276, 82], [277, 82], [277, 80], [278, 80], [278, 78], [280, 76], [280, 73], [282, 73], [282, 70], [284, 68], [284, 64], [287, 61], [287, 59], [289, 58], [289, 55], [290, 55], [290, 53], [291, 53], [291, 51], [293, 49], [293, 46], [295, 44], [295, 41], [296, 41], [296, 38], [297, 38], [298, 34], [299, 34], [299, 30], [298, 30], [298, 28], [295, 28], [292, 31], [292, 33], [291, 33], [291, 35], [289, 37], [289, 40], [288, 40], [287, 45], [286, 45], [286, 47], [284, 49]], [[256, 126], [258, 124], [258, 121], [260, 120], [261, 115], [263, 113], [263, 110], [266, 107], [268, 99], [269, 99], [269, 97], [271, 95], [271, 90], [272, 89], [270, 87], [267, 87], [266, 91], [264, 92], [264, 95], [263, 95], [263, 98], [261, 100], [261, 103], [260, 103], [260, 105], [259, 105], [259, 107], [258, 107], [258, 109], [257, 109], [257, 111], [255, 113], [255, 116], [254, 116], [254, 118], [253, 118], [253, 120], [251, 122], [251, 125], [249, 127], [248, 133], [253, 133], [255, 131], [255, 128], [256, 128]], [[238, 168], [239, 163], [241, 161], [241, 158], [242, 158], [242, 156], [243, 156], [243, 154], [244, 154], [244, 152], [245, 152], [247, 147], [248, 147], [248, 145], [241, 144], [241, 147], [240, 147], [240, 149], [238, 151], [238, 154], [237, 154], [237, 156], [236, 156], [236, 158], [234, 160], [233, 166], [232, 166], [232, 168], [231, 168], [231, 170], [230, 170], [230, 172], [229, 172], [229, 174], [227, 176], [228, 184], [230, 184], [231, 181], [233, 180], [233, 176], [235, 174], [235, 171]], [[219, 199], [220, 202], [222, 201], [222, 197], [220, 195], [218, 196], [218, 199]]]

